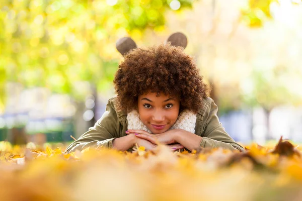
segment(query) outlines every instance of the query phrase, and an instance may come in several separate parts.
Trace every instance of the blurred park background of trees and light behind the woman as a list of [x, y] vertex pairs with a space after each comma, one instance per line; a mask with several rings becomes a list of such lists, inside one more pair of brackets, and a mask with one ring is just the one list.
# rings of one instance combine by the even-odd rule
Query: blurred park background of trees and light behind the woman
[[188, 37], [225, 130], [242, 143], [302, 142], [299, 0], [2, 0], [0, 141], [72, 141], [114, 95], [123, 57]]

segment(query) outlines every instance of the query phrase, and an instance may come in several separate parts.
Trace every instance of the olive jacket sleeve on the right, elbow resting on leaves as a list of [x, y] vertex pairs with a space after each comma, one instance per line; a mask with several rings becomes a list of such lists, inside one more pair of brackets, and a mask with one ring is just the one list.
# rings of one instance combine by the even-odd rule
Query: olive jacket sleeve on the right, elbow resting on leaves
[[219, 122], [217, 111], [218, 107], [212, 100], [203, 116], [200, 147], [222, 147], [224, 149], [244, 151], [243, 147], [225, 132]]

